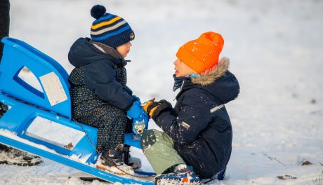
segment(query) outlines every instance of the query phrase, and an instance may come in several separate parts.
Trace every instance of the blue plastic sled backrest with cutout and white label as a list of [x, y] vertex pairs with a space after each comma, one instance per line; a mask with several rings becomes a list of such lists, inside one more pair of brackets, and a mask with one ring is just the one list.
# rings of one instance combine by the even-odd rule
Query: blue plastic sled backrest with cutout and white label
[[[38, 107], [71, 118], [71, 102], [67, 71], [53, 58], [29, 44], [5, 37], [0, 64], [0, 90]], [[20, 78], [27, 67], [37, 78], [42, 92]]]

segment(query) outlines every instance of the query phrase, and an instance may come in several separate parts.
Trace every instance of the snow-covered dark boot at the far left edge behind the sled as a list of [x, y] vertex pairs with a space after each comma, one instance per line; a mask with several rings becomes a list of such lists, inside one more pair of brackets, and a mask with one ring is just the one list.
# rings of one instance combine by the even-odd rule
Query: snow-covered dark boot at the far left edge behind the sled
[[34, 156], [25, 151], [13, 149], [2, 144], [0, 146], [0, 164], [33, 166], [42, 162], [43, 160], [39, 156]]

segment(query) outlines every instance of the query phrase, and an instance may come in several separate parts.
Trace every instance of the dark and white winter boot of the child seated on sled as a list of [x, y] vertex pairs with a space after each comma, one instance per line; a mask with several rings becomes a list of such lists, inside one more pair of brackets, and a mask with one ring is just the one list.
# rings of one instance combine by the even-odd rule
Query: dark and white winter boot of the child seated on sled
[[123, 148], [124, 144], [118, 144], [114, 150], [110, 149], [101, 153], [96, 163], [96, 168], [120, 175], [134, 174], [133, 168], [124, 164], [122, 160]]

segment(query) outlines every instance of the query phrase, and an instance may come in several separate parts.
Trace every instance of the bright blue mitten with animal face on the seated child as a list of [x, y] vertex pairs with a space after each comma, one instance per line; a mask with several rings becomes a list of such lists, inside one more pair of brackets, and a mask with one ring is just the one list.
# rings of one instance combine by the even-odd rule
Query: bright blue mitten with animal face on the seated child
[[127, 112], [128, 118], [133, 120], [132, 131], [135, 135], [142, 135], [144, 130], [148, 128], [148, 115], [140, 107], [140, 101], [133, 102], [132, 107]]

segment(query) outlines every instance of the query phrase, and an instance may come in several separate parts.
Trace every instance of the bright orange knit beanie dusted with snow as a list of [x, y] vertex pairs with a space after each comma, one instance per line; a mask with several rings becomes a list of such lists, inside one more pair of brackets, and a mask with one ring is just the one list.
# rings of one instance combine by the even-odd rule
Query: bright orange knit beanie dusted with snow
[[220, 34], [206, 32], [198, 39], [188, 41], [180, 47], [176, 57], [201, 74], [218, 64], [218, 56], [223, 48], [223, 43]]

